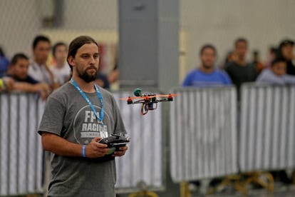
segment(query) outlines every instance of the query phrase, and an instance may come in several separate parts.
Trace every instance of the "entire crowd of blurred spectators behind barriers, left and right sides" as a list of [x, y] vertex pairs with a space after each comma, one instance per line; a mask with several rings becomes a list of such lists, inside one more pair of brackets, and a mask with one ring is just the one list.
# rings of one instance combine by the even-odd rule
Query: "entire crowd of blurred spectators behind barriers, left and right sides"
[[[38, 35], [32, 43], [33, 56], [15, 54], [7, 59], [0, 48], [0, 91], [24, 91], [40, 94], [46, 99], [48, 94], [62, 86], [71, 78], [71, 69], [66, 61], [68, 46], [58, 42], [51, 46], [48, 37]], [[217, 66], [217, 49], [212, 44], [205, 44], [200, 49], [200, 64], [190, 71], [182, 86], [228, 86], [239, 90], [243, 83], [257, 82], [266, 84], [295, 84], [294, 41], [285, 39], [277, 47], [269, 48], [265, 63], [259, 59], [259, 51], [252, 52], [252, 61], [247, 61], [249, 49], [247, 39], [234, 41], [232, 51], [227, 54], [224, 64]], [[47, 65], [49, 55], [53, 61]], [[98, 71], [96, 83], [105, 89], [118, 80], [118, 64], [106, 76]]]

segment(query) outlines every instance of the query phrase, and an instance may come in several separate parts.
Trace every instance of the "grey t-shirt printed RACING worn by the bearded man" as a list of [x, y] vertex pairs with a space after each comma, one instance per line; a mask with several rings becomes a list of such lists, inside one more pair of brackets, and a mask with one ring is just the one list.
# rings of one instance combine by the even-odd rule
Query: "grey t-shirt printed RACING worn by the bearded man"
[[[110, 92], [103, 96], [103, 125], [96, 121], [87, 101], [70, 83], [54, 91], [46, 102], [38, 133], [54, 133], [67, 141], [88, 144], [95, 136], [126, 133], [118, 106]], [[96, 93], [87, 94], [100, 115]], [[82, 151], [81, 151], [82, 153]], [[48, 196], [115, 196], [115, 160], [66, 157], [52, 154], [52, 179]]]

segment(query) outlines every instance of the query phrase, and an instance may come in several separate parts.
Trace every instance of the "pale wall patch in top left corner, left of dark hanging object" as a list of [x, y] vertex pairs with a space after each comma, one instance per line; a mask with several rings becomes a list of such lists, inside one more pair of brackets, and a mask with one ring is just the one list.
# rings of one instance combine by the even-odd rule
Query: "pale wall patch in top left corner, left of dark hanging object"
[[17, 52], [31, 55], [31, 42], [41, 29], [37, 1], [0, 1], [0, 46], [7, 56]]

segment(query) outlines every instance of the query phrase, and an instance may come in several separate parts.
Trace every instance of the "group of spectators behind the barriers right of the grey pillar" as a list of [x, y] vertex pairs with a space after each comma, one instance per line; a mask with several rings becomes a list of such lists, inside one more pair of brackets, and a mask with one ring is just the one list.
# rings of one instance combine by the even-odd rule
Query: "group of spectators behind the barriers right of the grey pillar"
[[182, 86], [233, 84], [237, 87], [239, 99], [239, 91], [243, 83], [295, 84], [294, 41], [285, 39], [277, 47], [271, 47], [265, 64], [259, 59], [259, 51], [253, 51], [252, 61], [247, 61], [248, 49], [247, 39], [236, 39], [234, 49], [227, 54], [224, 64], [217, 66], [215, 46], [205, 44], [200, 49], [200, 65], [185, 76]]

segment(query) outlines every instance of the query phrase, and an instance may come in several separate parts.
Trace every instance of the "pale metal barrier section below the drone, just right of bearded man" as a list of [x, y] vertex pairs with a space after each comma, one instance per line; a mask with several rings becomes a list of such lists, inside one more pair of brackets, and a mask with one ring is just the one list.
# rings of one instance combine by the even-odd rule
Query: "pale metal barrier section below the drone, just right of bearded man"
[[114, 93], [120, 113], [131, 141], [125, 156], [117, 158], [116, 188], [134, 190], [140, 181], [151, 189], [161, 189], [163, 183], [164, 143], [162, 142], [162, 108], [140, 114], [139, 104], [127, 105], [121, 97], [132, 95], [131, 92]]

